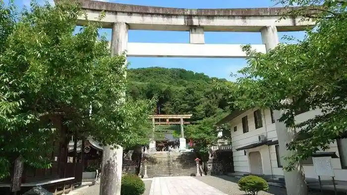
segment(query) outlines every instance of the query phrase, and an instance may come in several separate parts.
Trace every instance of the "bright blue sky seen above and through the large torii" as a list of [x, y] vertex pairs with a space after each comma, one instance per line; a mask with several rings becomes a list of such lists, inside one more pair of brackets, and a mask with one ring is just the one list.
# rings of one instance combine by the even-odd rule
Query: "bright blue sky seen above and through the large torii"
[[[5, 2], [8, 0], [5, 0]], [[40, 0], [43, 2], [43, 0]], [[53, 0], [50, 0], [53, 1]], [[103, 0], [118, 3], [166, 6], [179, 8], [250, 8], [272, 7], [272, 0]], [[30, 0], [15, 0], [18, 6], [29, 4]], [[111, 40], [111, 30], [102, 30]], [[303, 32], [279, 33], [302, 39]], [[189, 43], [189, 32], [172, 31], [129, 31], [129, 42], [145, 43]], [[283, 40], [280, 40], [284, 42]], [[222, 33], [205, 32], [206, 44], [262, 44], [260, 33]], [[167, 68], [184, 68], [194, 72], [202, 72], [211, 77], [226, 78], [234, 81], [230, 74], [246, 65], [245, 59], [219, 59], [219, 58], [155, 58], [155, 57], [128, 57], [130, 68], [160, 66]]]

